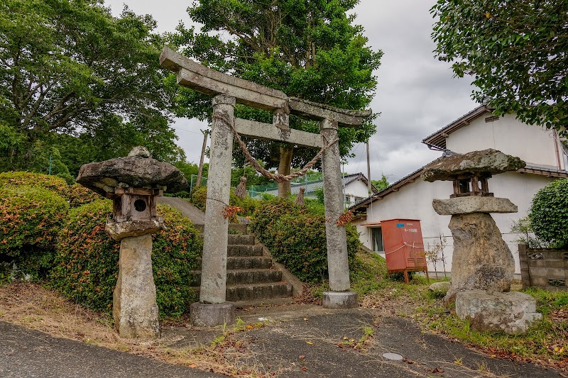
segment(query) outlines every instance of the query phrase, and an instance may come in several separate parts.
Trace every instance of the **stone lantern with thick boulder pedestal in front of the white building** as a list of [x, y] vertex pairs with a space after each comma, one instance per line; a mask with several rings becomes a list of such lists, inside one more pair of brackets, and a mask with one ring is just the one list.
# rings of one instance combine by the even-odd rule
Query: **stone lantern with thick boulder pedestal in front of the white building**
[[432, 202], [437, 213], [452, 216], [454, 253], [446, 300], [464, 290], [509, 291], [515, 261], [489, 213], [516, 213], [517, 206], [494, 197], [487, 179], [523, 167], [518, 157], [492, 149], [443, 156], [424, 167], [425, 181], [452, 181], [454, 186], [450, 199]]

